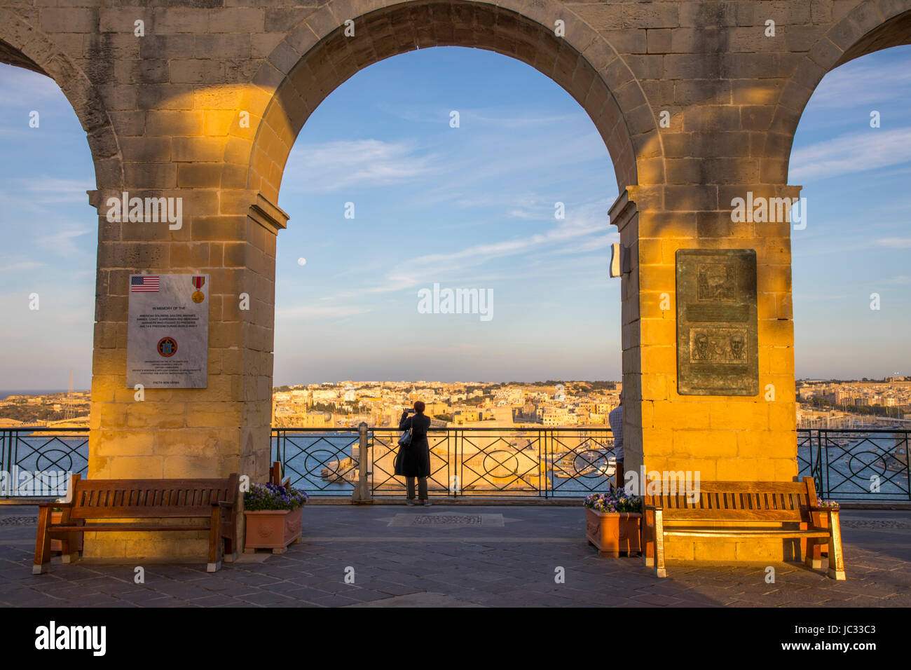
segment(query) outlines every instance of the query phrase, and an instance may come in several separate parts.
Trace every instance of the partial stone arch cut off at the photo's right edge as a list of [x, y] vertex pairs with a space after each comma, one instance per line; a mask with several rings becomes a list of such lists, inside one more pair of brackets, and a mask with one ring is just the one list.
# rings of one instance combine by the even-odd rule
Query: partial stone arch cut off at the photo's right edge
[[823, 77], [835, 67], [875, 51], [911, 44], [911, 0], [865, 0], [821, 36], [782, 89], [766, 139], [766, 155], [786, 183], [794, 133]]

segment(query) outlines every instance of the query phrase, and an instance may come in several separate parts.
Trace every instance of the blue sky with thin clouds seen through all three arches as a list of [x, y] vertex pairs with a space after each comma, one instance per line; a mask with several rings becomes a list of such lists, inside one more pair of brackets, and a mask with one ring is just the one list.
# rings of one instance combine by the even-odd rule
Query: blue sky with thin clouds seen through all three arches
[[[789, 179], [808, 210], [792, 233], [799, 377], [911, 374], [909, 103], [901, 46], [829, 73], [804, 111]], [[51, 79], [0, 66], [0, 157], [0, 389], [65, 388], [70, 368], [87, 388], [94, 175]], [[445, 47], [365, 68], [285, 168], [274, 383], [619, 379], [617, 193], [589, 117], [532, 67]], [[435, 284], [477, 289], [490, 309], [422, 313]]]

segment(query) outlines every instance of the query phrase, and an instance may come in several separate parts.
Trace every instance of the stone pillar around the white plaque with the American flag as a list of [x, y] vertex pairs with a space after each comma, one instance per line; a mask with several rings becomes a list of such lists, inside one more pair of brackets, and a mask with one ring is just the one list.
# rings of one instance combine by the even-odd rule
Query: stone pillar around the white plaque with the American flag
[[[176, 231], [167, 222], [110, 223], [107, 197], [92, 193], [101, 234], [88, 477], [237, 472], [265, 481], [271, 452], [276, 233], [288, 217], [251, 191], [130, 192], [134, 195], [182, 198], [184, 221]], [[128, 278], [138, 272], [209, 274], [206, 388], [147, 388], [138, 399], [137, 391], [126, 386]], [[242, 531], [242, 515], [239, 523]], [[199, 557], [205, 551], [204, 533], [96, 535], [87, 533], [87, 558]]]

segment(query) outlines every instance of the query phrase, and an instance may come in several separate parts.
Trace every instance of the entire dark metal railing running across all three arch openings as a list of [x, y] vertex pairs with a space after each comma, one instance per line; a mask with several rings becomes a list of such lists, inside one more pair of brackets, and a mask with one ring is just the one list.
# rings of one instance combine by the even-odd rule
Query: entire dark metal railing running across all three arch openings
[[[393, 461], [400, 433], [368, 428], [363, 472], [371, 496], [401, 495]], [[606, 428], [436, 428], [428, 434], [432, 495], [582, 497], [612, 480]], [[906, 428], [799, 428], [797, 462], [820, 497], [911, 501]], [[350, 497], [361, 471], [353, 428], [273, 428], [271, 454], [292, 483], [315, 495]], [[70, 473], [87, 474], [88, 428], [0, 430], [0, 497], [59, 498]], [[37, 473], [37, 476], [36, 476]]]

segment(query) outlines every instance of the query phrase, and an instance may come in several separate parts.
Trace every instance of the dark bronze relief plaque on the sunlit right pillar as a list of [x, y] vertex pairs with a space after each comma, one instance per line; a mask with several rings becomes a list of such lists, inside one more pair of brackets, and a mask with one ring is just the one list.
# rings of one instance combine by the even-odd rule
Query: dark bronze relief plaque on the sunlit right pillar
[[756, 252], [677, 252], [677, 392], [759, 393]]

